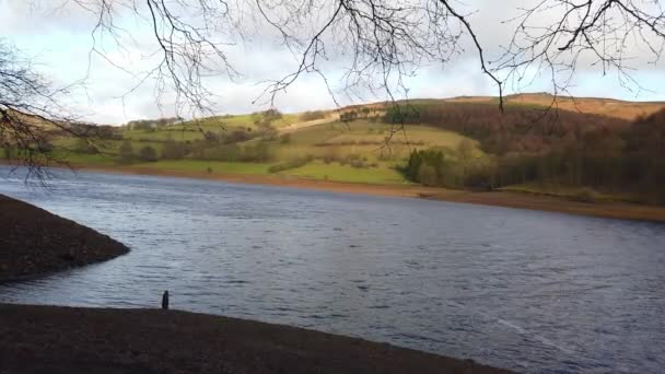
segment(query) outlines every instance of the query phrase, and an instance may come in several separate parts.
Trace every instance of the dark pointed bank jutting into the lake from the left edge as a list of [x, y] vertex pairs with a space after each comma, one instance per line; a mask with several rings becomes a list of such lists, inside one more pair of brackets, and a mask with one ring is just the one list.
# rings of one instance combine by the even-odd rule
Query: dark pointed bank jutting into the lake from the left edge
[[0, 195], [0, 282], [104, 261], [128, 250], [92, 229]]

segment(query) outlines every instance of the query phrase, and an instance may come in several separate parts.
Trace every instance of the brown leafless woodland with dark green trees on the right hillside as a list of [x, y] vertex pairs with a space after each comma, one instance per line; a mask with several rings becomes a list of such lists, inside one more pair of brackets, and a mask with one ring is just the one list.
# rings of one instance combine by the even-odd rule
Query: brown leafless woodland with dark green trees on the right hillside
[[[591, 187], [665, 203], [665, 110], [630, 122], [552, 108], [438, 104], [388, 110], [386, 121], [427, 124], [478, 140], [489, 160], [462, 164], [446, 150], [413, 150], [405, 175], [448, 188], [515, 184]], [[587, 189], [582, 200], [593, 200]]]

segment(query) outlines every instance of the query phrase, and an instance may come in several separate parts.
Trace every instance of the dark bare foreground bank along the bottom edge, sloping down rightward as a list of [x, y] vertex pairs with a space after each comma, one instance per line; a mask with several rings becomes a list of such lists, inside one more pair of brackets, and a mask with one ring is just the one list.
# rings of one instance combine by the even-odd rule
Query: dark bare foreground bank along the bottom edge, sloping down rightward
[[0, 373], [504, 373], [471, 361], [244, 319], [0, 304]]

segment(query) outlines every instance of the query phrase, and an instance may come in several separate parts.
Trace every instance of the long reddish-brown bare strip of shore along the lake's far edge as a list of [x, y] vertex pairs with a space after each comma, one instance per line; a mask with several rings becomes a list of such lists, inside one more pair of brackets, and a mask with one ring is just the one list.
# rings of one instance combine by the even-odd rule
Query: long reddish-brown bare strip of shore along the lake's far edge
[[420, 185], [373, 185], [360, 183], [343, 183], [302, 177], [288, 177], [281, 175], [237, 175], [202, 172], [187, 172], [178, 170], [160, 170], [151, 167], [132, 166], [82, 166], [75, 170], [88, 172], [117, 173], [127, 175], [155, 175], [207, 180], [221, 180], [226, 183], [280, 186], [304, 188], [331, 192], [361, 194], [384, 197], [423, 198], [441, 201], [475, 203], [504, 208], [540, 210], [579, 215], [611, 218], [622, 220], [665, 222], [665, 207], [646, 206], [628, 202], [580, 202], [567, 198], [534, 195], [512, 191], [478, 192], [467, 190], [453, 190], [445, 188], [424, 187]]

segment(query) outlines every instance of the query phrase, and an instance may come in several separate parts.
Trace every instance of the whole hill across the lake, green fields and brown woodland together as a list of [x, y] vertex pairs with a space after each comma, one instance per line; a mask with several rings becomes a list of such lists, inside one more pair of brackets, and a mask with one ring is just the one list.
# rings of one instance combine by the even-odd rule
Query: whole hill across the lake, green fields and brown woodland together
[[[665, 108], [664, 103], [559, 97], [553, 108], [547, 106], [551, 100], [546, 94], [508, 96], [504, 113], [495, 97], [482, 96], [372, 103], [337, 112], [272, 109], [133, 121], [104, 127], [92, 142], [52, 131], [49, 141], [51, 156], [89, 167], [665, 202], [656, 187], [662, 179], [662, 157], [653, 157], [657, 145], [645, 148], [649, 154], [641, 147], [661, 139], [654, 124], [662, 115], [626, 119]], [[588, 113], [562, 108], [573, 103], [583, 103]], [[5, 149], [5, 156], [11, 152]]]

